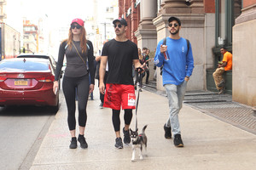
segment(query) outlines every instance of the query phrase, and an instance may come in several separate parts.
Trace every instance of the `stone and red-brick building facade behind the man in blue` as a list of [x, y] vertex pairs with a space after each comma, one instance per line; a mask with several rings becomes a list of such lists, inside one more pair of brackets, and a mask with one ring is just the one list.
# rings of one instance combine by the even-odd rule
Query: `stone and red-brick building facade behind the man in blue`
[[[254, 38], [249, 37], [255, 37], [255, 9], [256, 0], [119, 0], [119, 17], [129, 25], [126, 36], [139, 48], [154, 51], [157, 42], [169, 36], [168, 18], [181, 20], [180, 35], [191, 42], [195, 59], [188, 90], [216, 91], [212, 72], [222, 60], [219, 49], [227, 46], [233, 54], [233, 71], [225, 74], [226, 92], [252, 106], [256, 105], [256, 57]], [[164, 90], [159, 74], [157, 88]]]

